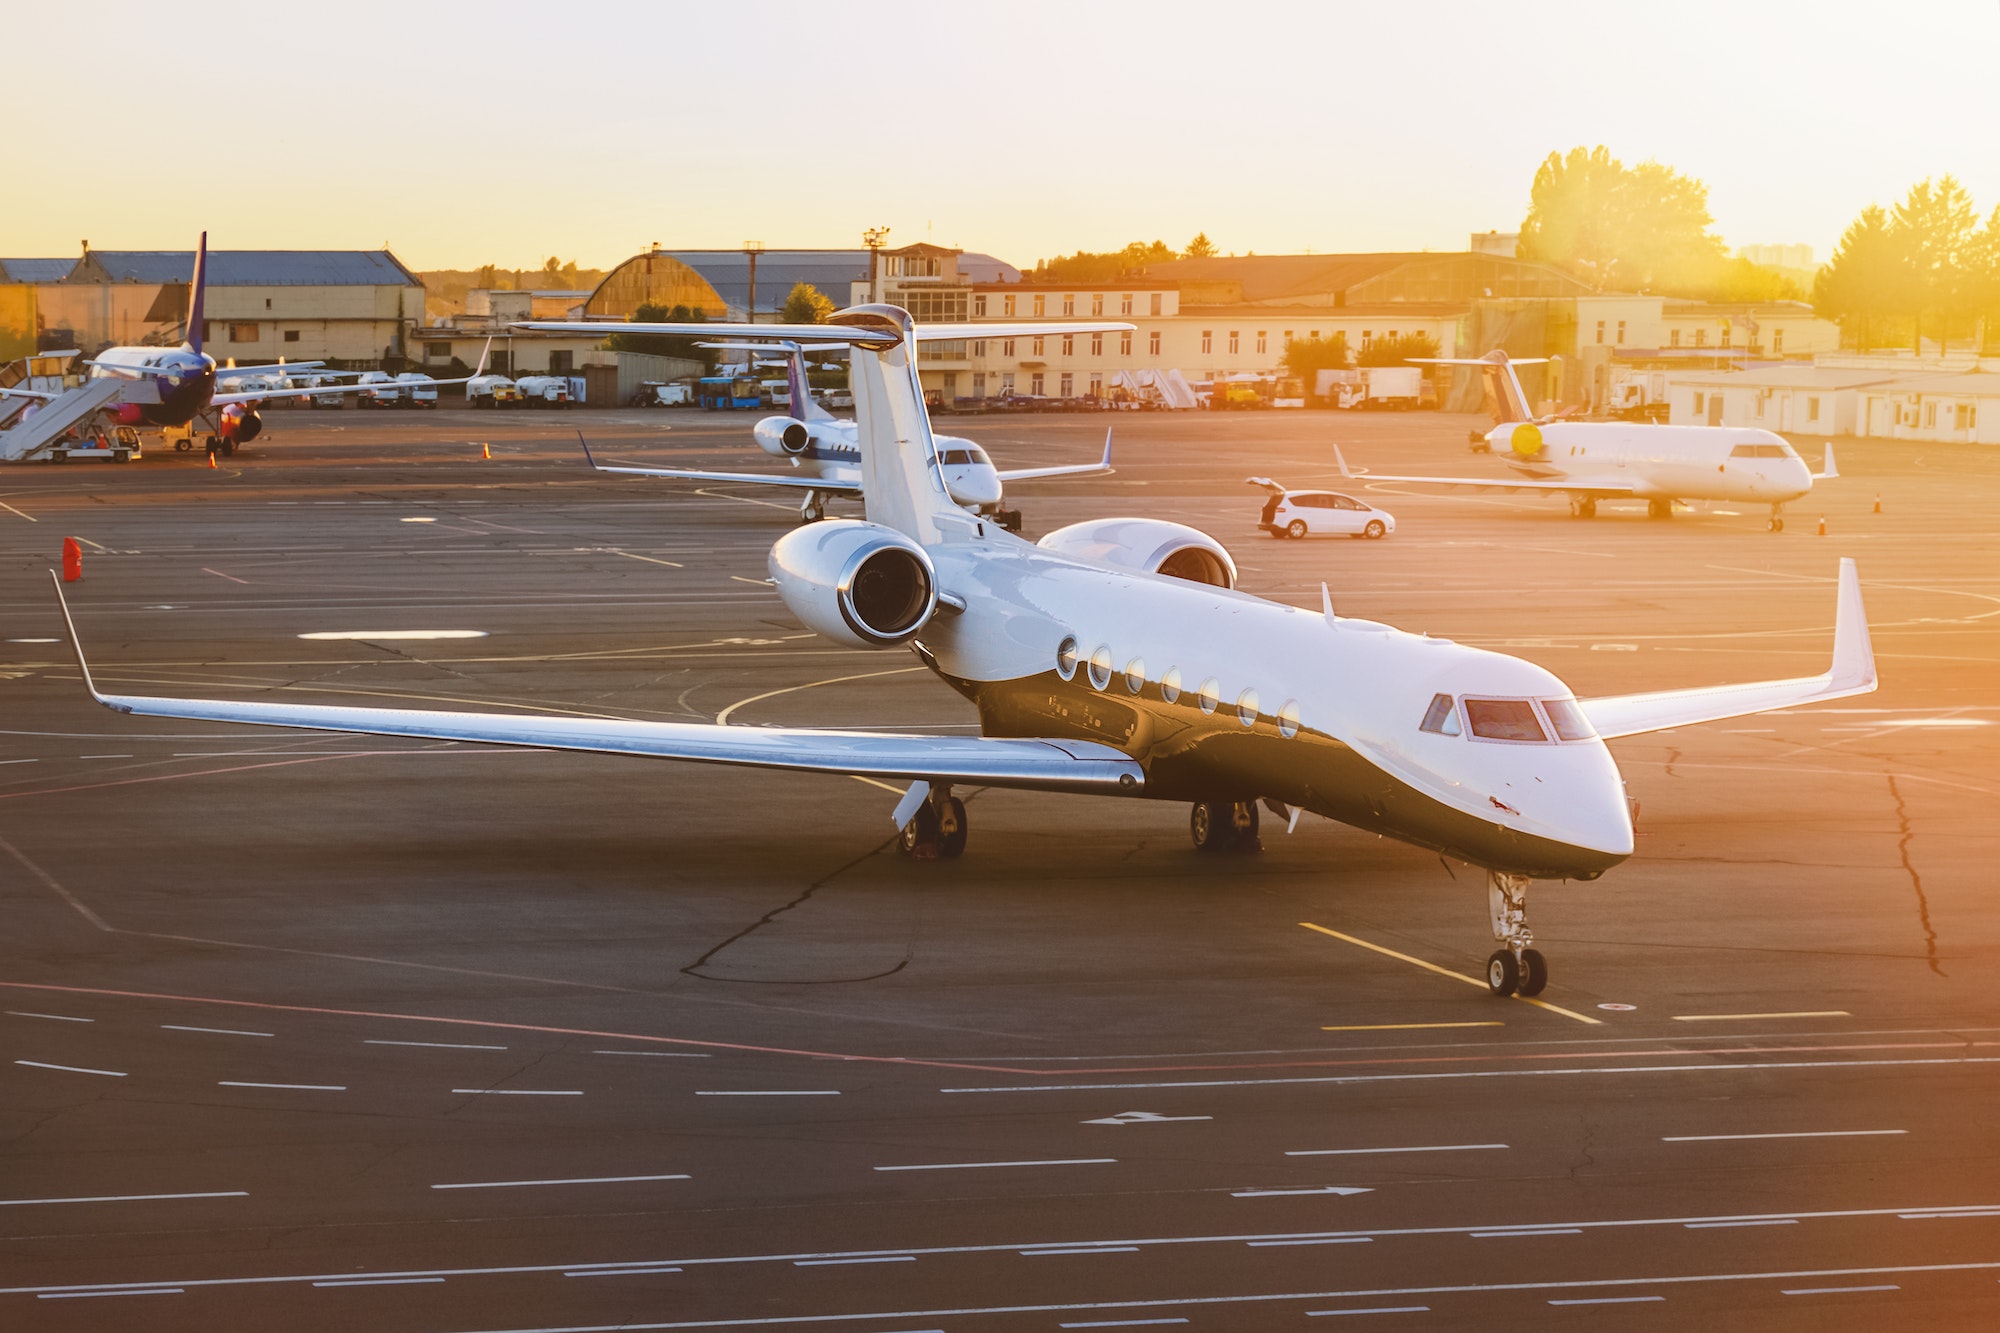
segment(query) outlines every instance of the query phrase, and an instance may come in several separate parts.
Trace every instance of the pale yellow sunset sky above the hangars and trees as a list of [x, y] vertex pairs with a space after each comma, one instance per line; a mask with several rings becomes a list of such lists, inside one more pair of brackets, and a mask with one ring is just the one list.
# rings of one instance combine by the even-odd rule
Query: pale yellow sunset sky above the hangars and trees
[[1996, 0], [86, 8], [8, 18], [0, 254], [1462, 250], [1598, 142], [1730, 246], [1824, 260], [1944, 172], [2000, 204]]

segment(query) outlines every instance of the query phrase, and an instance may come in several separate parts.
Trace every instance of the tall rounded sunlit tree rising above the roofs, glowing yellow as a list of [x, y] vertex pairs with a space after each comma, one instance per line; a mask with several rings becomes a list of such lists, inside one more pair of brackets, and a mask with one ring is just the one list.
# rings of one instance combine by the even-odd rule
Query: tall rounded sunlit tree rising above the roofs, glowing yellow
[[1724, 264], [1708, 186], [1660, 162], [1626, 166], [1608, 148], [1552, 152], [1534, 172], [1520, 256], [1568, 268], [1598, 290], [1708, 294]]

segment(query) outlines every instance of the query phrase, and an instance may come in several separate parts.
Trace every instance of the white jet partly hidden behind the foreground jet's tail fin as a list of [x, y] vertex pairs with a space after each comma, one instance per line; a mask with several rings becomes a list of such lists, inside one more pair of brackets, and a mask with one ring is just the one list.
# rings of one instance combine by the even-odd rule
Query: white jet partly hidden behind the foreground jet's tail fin
[[[544, 330], [588, 330], [604, 328], [592, 324], [550, 324], [530, 322], [522, 328]], [[756, 324], [754, 328], [770, 328]], [[1106, 324], [1070, 324], [1064, 332], [1094, 332]], [[676, 476], [680, 480], [748, 482], [756, 486], [792, 486], [806, 496], [798, 504], [804, 522], [818, 522], [826, 516], [826, 500], [834, 496], [862, 494], [862, 452], [858, 428], [852, 420], [842, 420], [812, 400], [806, 386], [806, 350], [796, 340], [772, 342], [704, 342], [702, 346], [752, 352], [784, 352], [786, 380], [790, 384], [792, 412], [788, 416], [766, 416], [750, 428], [758, 448], [778, 458], [790, 458], [792, 476], [772, 472], [692, 472], [684, 468], [634, 468], [608, 466], [590, 458], [590, 466], [600, 472], [630, 472], [634, 476]], [[1042, 476], [1102, 476], [1112, 470], [1112, 432], [1104, 432], [1104, 458], [1100, 462], [1076, 462], [1052, 468], [996, 468], [984, 448], [972, 440], [940, 434], [938, 462], [944, 484], [952, 500], [974, 514], [986, 514], [1010, 532], [1020, 530], [1020, 510], [1004, 508], [1006, 482], [1034, 480]], [[584, 456], [590, 456], [588, 446]]]

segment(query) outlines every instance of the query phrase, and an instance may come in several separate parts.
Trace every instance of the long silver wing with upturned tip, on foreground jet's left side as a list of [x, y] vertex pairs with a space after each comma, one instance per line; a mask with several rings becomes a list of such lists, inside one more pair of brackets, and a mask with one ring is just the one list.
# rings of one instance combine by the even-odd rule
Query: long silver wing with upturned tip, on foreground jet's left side
[[[54, 580], [54, 570], [50, 570]], [[508, 713], [432, 713], [428, 709], [342, 709], [328, 705], [244, 703], [230, 699], [148, 699], [104, 695], [90, 679], [76, 622], [56, 580], [76, 666], [90, 697], [128, 717], [170, 717], [250, 727], [418, 737], [470, 745], [512, 745], [594, 755], [686, 759], [754, 769], [842, 773], [874, 779], [982, 783], [1032, 791], [1138, 795], [1146, 771], [1136, 759], [1096, 741], [1026, 741], [926, 737], [802, 727], [720, 727], [714, 723], [632, 723], [624, 719]]]

